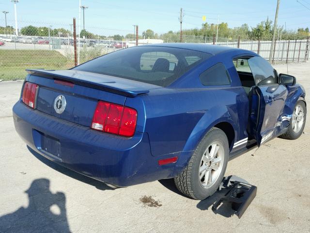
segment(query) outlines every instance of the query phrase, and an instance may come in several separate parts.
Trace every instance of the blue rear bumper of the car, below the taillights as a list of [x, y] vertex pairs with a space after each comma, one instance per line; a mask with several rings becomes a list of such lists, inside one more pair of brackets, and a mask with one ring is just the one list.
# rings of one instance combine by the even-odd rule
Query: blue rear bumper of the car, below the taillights
[[[129, 186], [170, 178], [174, 165], [158, 166], [165, 157], [151, 155], [147, 133], [132, 138], [97, 132], [71, 123], [18, 101], [13, 107], [17, 133], [34, 151], [62, 166], [116, 186]], [[42, 148], [46, 137], [59, 143], [60, 153]]]

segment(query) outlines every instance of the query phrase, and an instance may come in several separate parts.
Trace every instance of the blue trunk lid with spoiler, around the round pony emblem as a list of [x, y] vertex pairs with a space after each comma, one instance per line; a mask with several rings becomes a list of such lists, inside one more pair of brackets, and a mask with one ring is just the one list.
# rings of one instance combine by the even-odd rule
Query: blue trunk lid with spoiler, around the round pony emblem
[[[90, 127], [98, 100], [124, 105], [126, 98], [147, 94], [159, 86], [76, 70], [28, 70], [27, 81], [39, 85], [36, 109], [51, 116]], [[55, 109], [65, 99], [63, 112]], [[56, 100], [56, 101], [55, 101]], [[63, 100], [63, 99], [62, 99]], [[63, 103], [63, 102], [62, 102]], [[56, 107], [57, 108], [57, 107]]]

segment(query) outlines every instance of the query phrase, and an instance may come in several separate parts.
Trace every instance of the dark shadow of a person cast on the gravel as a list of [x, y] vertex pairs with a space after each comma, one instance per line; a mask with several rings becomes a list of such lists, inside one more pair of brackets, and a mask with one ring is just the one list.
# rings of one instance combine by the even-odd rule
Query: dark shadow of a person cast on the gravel
[[14, 213], [0, 216], [0, 232], [5, 233], [69, 233], [65, 195], [53, 194], [49, 180], [36, 179], [28, 190], [29, 205]]

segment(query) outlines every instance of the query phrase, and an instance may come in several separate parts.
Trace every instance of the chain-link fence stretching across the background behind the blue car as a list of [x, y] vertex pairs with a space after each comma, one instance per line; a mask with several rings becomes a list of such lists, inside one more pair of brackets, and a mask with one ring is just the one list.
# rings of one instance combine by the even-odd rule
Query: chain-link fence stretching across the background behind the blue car
[[[7, 22], [14, 25], [14, 22]], [[4, 22], [0, 21], [0, 25]], [[30, 26], [31, 25], [31, 26]], [[72, 24], [19, 22], [18, 35], [13, 27], [0, 27], [0, 80], [23, 79], [26, 68], [68, 69], [75, 66]], [[144, 44], [180, 42], [180, 33], [155, 34], [152, 39], [143, 33], [88, 27], [81, 30], [77, 42], [78, 62], [83, 63], [114, 50]], [[78, 41], [78, 39], [77, 39]], [[249, 40], [240, 36], [182, 35], [184, 43], [206, 43], [251, 50], [269, 59], [271, 41]], [[308, 39], [279, 40], [274, 47], [273, 63], [305, 62], [309, 60]]]

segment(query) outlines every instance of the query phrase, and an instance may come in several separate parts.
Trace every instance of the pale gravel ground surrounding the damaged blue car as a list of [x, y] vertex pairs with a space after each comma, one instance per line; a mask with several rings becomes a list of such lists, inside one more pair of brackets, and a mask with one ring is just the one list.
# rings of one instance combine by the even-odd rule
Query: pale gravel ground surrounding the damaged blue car
[[[286, 65], [275, 67], [287, 73]], [[310, 102], [310, 63], [288, 69]], [[309, 120], [298, 140], [276, 138], [229, 162], [226, 175], [258, 187], [238, 219], [224, 207], [213, 213], [212, 199], [180, 195], [171, 180], [113, 190], [33, 155], [13, 124], [21, 85], [0, 83], [0, 233], [310, 232]]]

